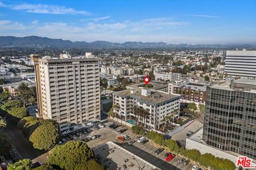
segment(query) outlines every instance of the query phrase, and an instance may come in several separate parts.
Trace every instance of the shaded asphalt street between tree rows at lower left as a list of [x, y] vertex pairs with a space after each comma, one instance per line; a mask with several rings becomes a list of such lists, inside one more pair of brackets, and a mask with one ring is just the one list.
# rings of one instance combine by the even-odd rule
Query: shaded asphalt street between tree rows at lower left
[[18, 152], [18, 156], [21, 159], [28, 158], [32, 160], [45, 153], [43, 150], [34, 149], [33, 146], [30, 145], [28, 139], [17, 128], [17, 126], [8, 122], [4, 132], [9, 134], [11, 137], [12, 145]]

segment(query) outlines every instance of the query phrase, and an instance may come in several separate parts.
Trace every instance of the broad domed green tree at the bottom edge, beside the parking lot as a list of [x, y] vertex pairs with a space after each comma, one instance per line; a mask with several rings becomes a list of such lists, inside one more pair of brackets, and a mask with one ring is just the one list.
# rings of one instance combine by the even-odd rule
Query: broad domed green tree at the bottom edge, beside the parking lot
[[[83, 141], [69, 141], [65, 145], [59, 145], [52, 150], [52, 154], [47, 159], [49, 165], [57, 165], [62, 169], [103, 169], [94, 160], [94, 153]], [[91, 164], [91, 165], [90, 165]], [[98, 164], [98, 165], [95, 165]]]

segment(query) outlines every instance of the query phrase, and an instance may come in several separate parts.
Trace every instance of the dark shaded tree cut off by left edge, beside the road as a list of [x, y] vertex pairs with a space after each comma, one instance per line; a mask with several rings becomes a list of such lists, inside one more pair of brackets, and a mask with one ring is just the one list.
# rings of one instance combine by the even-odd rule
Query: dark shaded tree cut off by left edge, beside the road
[[11, 149], [11, 138], [6, 133], [0, 132], [0, 155], [3, 155], [7, 159]]

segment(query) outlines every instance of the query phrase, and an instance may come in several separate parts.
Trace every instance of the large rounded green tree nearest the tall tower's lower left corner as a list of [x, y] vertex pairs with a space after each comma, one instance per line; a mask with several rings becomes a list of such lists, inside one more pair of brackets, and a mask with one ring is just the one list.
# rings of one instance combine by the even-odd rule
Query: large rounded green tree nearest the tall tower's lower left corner
[[60, 128], [54, 120], [43, 120], [31, 133], [29, 141], [36, 149], [50, 149], [60, 141]]

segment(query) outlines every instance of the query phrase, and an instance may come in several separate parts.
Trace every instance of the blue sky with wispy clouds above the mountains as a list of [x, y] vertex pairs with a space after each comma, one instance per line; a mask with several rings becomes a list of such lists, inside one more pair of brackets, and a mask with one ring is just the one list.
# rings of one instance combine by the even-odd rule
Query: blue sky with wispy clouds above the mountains
[[116, 43], [255, 43], [256, 1], [0, 0], [0, 35]]

